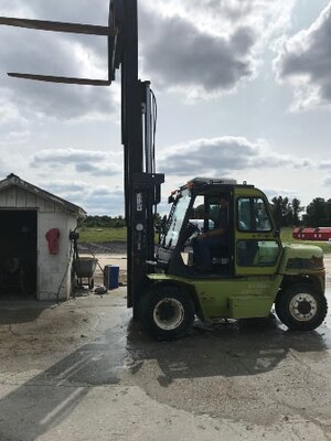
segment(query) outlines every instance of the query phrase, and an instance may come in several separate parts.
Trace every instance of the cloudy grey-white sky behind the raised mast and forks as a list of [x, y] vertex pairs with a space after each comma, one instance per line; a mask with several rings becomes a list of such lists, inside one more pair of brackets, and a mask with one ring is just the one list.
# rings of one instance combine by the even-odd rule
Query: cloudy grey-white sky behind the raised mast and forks
[[[331, 197], [331, 1], [138, 3], [163, 198], [196, 175], [302, 205]], [[0, 0], [0, 15], [106, 25], [108, 0]], [[119, 79], [93, 88], [7, 72], [106, 78], [105, 37], [0, 26], [0, 179], [14, 173], [88, 214], [122, 214]]]

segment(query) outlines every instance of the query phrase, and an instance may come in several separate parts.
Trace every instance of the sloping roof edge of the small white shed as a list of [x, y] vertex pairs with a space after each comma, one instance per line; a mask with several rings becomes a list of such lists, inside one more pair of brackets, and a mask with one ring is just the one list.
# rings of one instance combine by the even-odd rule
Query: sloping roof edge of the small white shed
[[13, 186], [33, 193], [34, 195], [42, 197], [46, 201], [53, 202], [64, 212], [76, 214], [81, 218], [84, 218], [86, 216], [85, 209], [83, 209], [78, 205], [72, 204], [71, 202], [65, 201], [62, 197], [55, 196], [55, 194], [40, 189], [36, 185], [30, 184], [29, 182], [22, 180], [13, 173], [9, 174], [4, 180], [0, 181], [0, 192], [7, 191], [8, 189]]

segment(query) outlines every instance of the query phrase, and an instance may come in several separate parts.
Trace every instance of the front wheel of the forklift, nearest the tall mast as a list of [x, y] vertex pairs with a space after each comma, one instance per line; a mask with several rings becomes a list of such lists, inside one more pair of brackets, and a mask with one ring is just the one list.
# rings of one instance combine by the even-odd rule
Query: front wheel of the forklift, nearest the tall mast
[[180, 338], [192, 329], [194, 303], [190, 294], [175, 284], [151, 288], [140, 306], [143, 327], [159, 341]]

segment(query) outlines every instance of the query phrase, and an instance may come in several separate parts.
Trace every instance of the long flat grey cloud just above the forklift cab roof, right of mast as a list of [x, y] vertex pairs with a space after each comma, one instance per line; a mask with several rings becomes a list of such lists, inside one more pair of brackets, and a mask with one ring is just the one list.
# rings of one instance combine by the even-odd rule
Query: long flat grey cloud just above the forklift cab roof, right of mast
[[159, 159], [158, 169], [174, 175], [227, 175], [245, 169], [277, 166], [310, 166], [308, 159], [281, 155], [260, 140], [250, 142], [241, 137], [200, 139], [173, 146]]

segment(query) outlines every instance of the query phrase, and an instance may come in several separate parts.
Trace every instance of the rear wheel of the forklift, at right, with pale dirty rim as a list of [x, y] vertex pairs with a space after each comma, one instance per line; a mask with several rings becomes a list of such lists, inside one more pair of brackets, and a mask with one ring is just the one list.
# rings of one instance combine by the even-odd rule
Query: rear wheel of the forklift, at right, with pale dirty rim
[[292, 284], [275, 302], [279, 320], [291, 331], [312, 331], [322, 324], [328, 312], [327, 299], [310, 283]]

